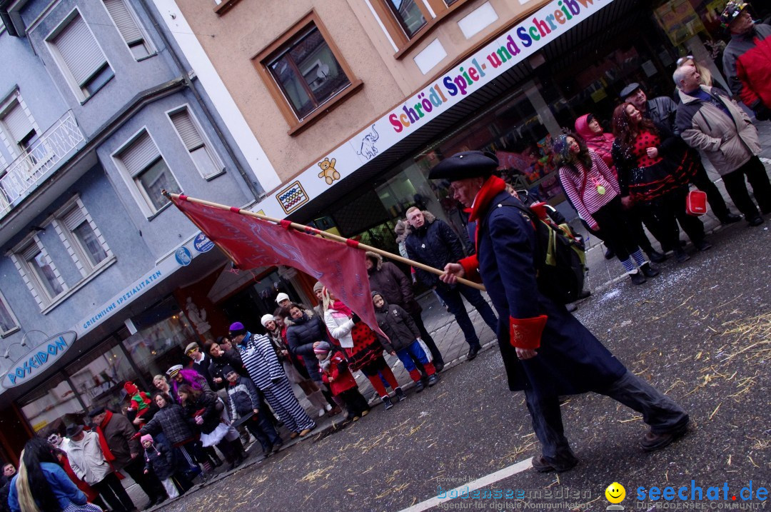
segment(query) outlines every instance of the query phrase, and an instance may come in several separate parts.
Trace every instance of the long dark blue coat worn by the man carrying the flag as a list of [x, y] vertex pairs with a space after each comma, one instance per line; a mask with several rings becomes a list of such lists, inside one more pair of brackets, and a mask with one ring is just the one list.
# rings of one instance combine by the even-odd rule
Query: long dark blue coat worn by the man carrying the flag
[[[535, 230], [519, 202], [503, 191], [480, 214], [479, 270], [498, 313], [498, 344], [512, 391], [533, 388], [567, 395], [605, 389], [626, 369], [581, 322], [538, 291]], [[517, 359], [509, 343], [509, 318], [547, 315], [538, 355]]]

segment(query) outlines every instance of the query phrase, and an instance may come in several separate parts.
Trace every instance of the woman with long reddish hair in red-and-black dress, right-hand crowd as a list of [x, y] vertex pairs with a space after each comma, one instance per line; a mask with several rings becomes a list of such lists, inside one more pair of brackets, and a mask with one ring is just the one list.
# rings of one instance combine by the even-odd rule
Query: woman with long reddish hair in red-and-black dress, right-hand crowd
[[685, 211], [688, 184], [697, 165], [685, 143], [666, 126], [645, 119], [631, 103], [614, 110], [613, 133], [611, 153], [625, 206], [637, 204], [649, 211], [662, 244], [674, 248], [679, 262], [690, 257], [680, 246], [678, 221], [699, 251], [711, 248], [704, 239], [702, 221]]

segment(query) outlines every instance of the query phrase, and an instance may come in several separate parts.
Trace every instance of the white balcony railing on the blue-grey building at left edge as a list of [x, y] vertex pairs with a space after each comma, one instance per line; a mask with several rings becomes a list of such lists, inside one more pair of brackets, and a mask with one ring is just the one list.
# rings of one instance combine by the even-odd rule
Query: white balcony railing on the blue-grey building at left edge
[[49, 170], [85, 140], [72, 112], [53, 123], [32, 146], [0, 172], [0, 217], [37, 187]]

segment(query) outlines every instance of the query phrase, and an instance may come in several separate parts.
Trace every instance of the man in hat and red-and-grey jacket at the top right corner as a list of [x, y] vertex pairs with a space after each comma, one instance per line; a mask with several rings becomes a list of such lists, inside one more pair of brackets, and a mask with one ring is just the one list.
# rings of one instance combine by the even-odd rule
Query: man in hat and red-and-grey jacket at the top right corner
[[731, 32], [723, 52], [723, 69], [731, 92], [749, 106], [758, 120], [771, 118], [771, 25], [752, 20], [749, 5], [731, 0], [720, 15]]

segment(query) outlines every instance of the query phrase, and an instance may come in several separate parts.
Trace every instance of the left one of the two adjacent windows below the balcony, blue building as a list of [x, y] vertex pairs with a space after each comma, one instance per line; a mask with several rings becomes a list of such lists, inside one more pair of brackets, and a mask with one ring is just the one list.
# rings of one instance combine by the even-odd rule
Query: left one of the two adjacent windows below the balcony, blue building
[[67, 285], [38, 235], [22, 242], [11, 254], [11, 259], [41, 309], [66, 291]]

